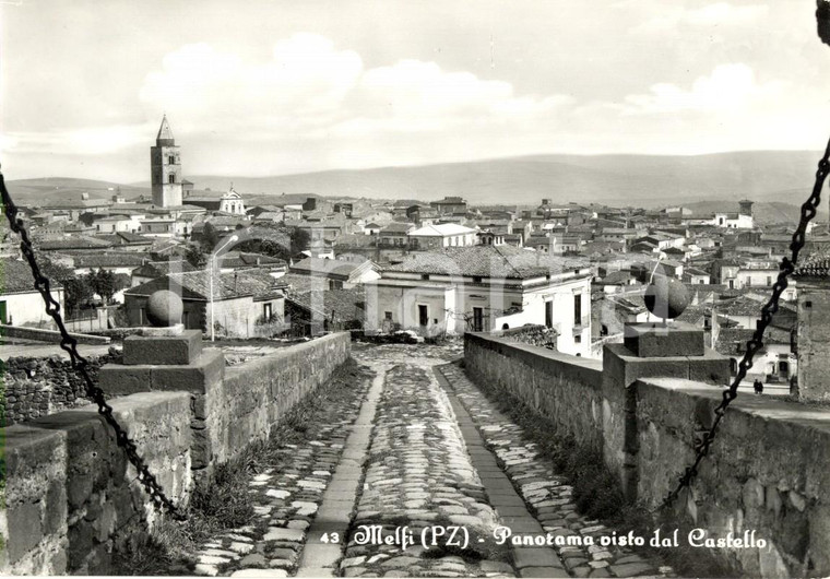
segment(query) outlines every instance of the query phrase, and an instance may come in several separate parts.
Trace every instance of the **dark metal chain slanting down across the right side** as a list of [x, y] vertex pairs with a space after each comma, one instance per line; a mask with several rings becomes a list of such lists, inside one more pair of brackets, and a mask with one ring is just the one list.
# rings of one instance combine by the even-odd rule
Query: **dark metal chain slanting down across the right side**
[[801, 253], [802, 249], [804, 249], [804, 238], [807, 234], [807, 224], [816, 216], [816, 213], [818, 212], [818, 205], [821, 201], [821, 189], [825, 187], [825, 181], [827, 179], [828, 173], [830, 173], [830, 142], [828, 142], [827, 149], [825, 150], [825, 156], [822, 156], [818, 162], [818, 169], [816, 170], [816, 182], [813, 186], [813, 194], [810, 194], [809, 199], [807, 199], [807, 201], [805, 201], [802, 205], [802, 217], [798, 222], [798, 227], [796, 227], [795, 233], [793, 234], [793, 241], [790, 244], [792, 256], [790, 258], [784, 257], [781, 260], [781, 263], [779, 265], [780, 272], [778, 280], [772, 286], [772, 295], [770, 296], [769, 302], [767, 302], [767, 304], [761, 308], [761, 319], [756, 327], [752, 339], [749, 340], [746, 344], [746, 353], [744, 354], [744, 358], [738, 365], [737, 376], [735, 376], [735, 379], [732, 381], [730, 389], [723, 391], [723, 400], [718, 405], [718, 407], [714, 409], [715, 416], [714, 422], [712, 423], [712, 427], [707, 430], [703, 434], [703, 437], [695, 444], [695, 461], [690, 466], [686, 468], [686, 471], [679, 478], [677, 487], [668, 493], [668, 496], [666, 496], [665, 500], [659, 507], [659, 509], [669, 507], [677, 499], [680, 492], [685, 487], [691, 486], [693, 478], [698, 475], [698, 466], [700, 465], [700, 462], [709, 453], [709, 448], [714, 441], [718, 426], [721, 423], [721, 418], [723, 418], [723, 414], [726, 411], [726, 407], [733, 400], [735, 400], [735, 398], [737, 398], [738, 386], [740, 386], [740, 382], [744, 380], [744, 378], [746, 378], [749, 368], [752, 367], [752, 358], [758, 353], [758, 351], [763, 347], [763, 332], [767, 330], [767, 327], [770, 324], [770, 322], [772, 322], [772, 316], [779, 310], [779, 300], [781, 298], [781, 294], [787, 287], [787, 277], [790, 277], [790, 275], [792, 275], [795, 271], [795, 264], [798, 262], [798, 255]]

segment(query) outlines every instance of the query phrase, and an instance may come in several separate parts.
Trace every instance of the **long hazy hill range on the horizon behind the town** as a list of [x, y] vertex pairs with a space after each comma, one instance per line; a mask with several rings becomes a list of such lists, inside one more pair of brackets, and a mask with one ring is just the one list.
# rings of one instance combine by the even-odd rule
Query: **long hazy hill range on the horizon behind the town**
[[[246, 197], [293, 199], [309, 194], [430, 201], [462, 196], [473, 204], [601, 202], [614, 205], [687, 205], [738, 199], [799, 204], [813, 187], [818, 152], [745, 151], [698, 156], [535, 155], [412, 167], [328, 170], [273, 177], [186, 175], [199, 189], [225, 191], [230, 182]], [[88, 190], [111, 194], [116, 184], [75, 179], [13, 181], [33, 196]], [[88, 185], [84, 185], [88, 184]], [[52, 189], [49, 189], [52, 187]], [[55, 187], [58, 187], [57, 189]], [[103, 187], [103, 189], [102, 189]], [[121, 186], [126, 196], [147, 184]]]

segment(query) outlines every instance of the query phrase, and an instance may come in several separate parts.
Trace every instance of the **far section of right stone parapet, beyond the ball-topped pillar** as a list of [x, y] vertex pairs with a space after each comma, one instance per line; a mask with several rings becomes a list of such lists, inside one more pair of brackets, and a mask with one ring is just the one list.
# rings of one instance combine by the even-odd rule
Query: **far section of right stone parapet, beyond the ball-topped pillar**
[[485, 334], [464, 334], [465, 368], [553, 420], [561, 433], [602, 446], [602, 363]]

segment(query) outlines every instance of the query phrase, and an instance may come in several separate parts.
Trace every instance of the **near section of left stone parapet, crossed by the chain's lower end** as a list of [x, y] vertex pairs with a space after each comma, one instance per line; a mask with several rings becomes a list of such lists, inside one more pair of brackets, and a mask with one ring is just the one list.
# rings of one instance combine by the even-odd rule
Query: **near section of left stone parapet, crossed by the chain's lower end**
[[[176, 503], [190, 476], [190, 395], [142, 392], [115, 415]], [[5, 428], [3, 575], [105, 575], [112, 551], [152, 523], [145, 496], [94, 406]]]

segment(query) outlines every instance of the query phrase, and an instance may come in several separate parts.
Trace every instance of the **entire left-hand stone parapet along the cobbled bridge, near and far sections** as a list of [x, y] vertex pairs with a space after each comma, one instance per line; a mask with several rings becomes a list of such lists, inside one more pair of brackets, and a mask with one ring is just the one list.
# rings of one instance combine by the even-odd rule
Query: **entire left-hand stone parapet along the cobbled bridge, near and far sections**
[[[186, 505], [198, 475], [266, 438], [349, 351], [347, 332], [330, 334], [228, 367], [203, 394], [155, 390], [110, 404], [162, 488]], [[112, 554], [153, 527], [157, 513], [95, 406], [17, 424], [4, 435], [0, 572], [107, 575]]]

